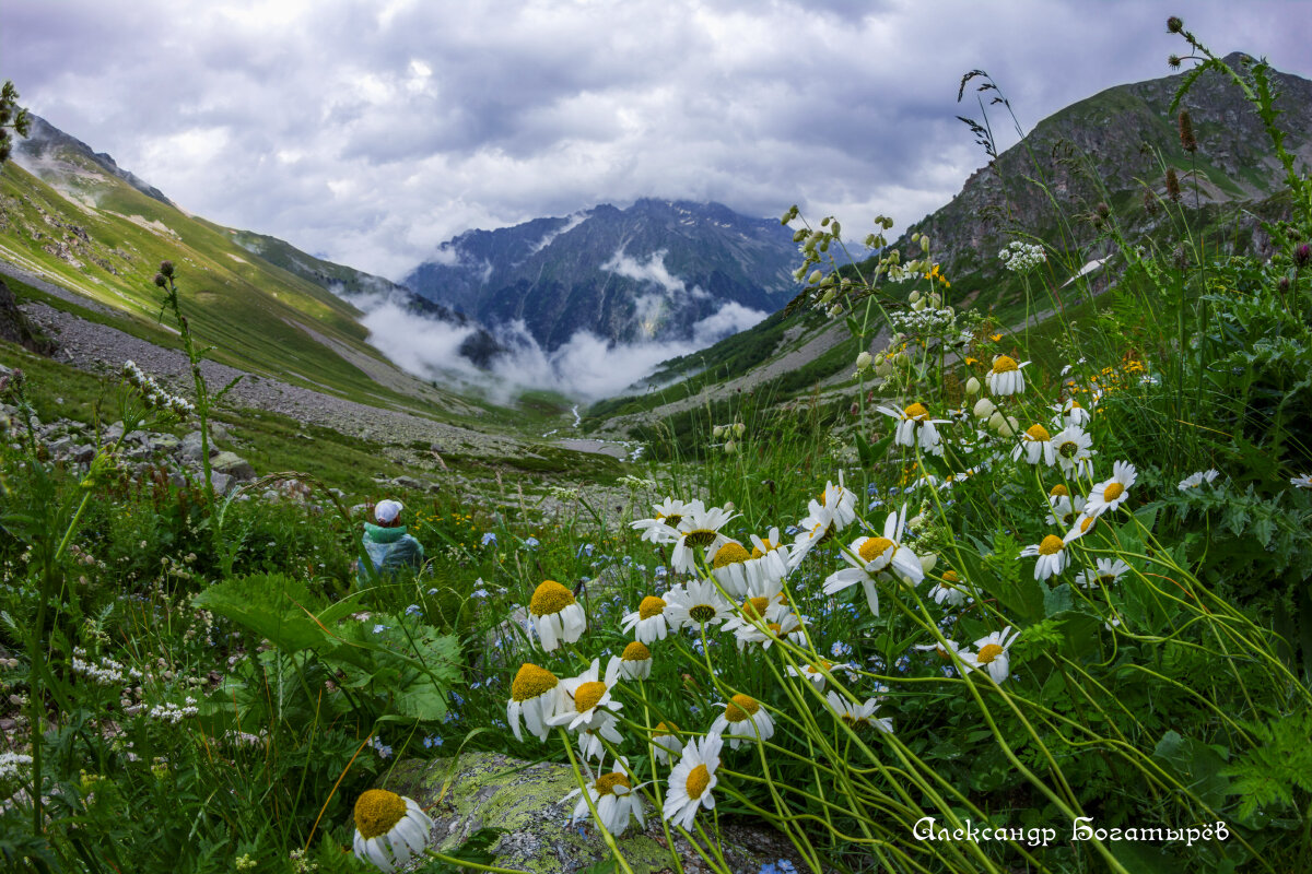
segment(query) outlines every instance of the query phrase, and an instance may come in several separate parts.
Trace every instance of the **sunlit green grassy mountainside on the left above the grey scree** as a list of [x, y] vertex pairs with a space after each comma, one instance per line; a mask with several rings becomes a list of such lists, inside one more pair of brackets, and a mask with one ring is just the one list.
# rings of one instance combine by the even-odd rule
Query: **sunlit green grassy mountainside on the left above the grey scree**
[[401, 373], [367, 345], [359, 311], [328, 290], [386, 280], [188, 215], [108, 156], [45, 128], [0, 172], [0, 259], [113, 308], [151, 339], [160, 334], [152, 278], [171, 259], [193, 330], [223, 363], [443, 419], [487, 414], [480, 401]]

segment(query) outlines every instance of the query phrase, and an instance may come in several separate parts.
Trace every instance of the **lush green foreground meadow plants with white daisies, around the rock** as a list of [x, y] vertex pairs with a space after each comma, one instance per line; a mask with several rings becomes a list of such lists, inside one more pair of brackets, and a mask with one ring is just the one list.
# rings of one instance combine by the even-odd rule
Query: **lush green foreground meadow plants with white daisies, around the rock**
[[[569, 763], [596, 871], [631, 870], [636, 811], [711, 870], [743, 822], [787, 837], [773, 870], [1312, 867], [1312, 183], [1263, 67], [1183, 35], [1287, 159], [1270, 258], [1155, 181], [1176, 237], [1139, 249], [1109, 208], [1103, 296], [1056, 307], [1043, 241], [1000, 254], [1059, 312], [1005, 332], [951, 307], [932, 240], [848, 275], [837, 225], [802, 228], [808, 303], [858, 346], [899, 329], [846, 397], [710, 411], [619, 514], [586, 484], [550, 519], [412, 506], [417, 577], [356, 583], [316, 477], [264, 502], [133, 482], [113, 446], [51, 465], [9, 375], [0, 857], [371, 870], [356, 799], [489, 748]], [[165, 415], [117, 398], [125, 430]], [[488, 843], [422, 870], [499, 870]]]

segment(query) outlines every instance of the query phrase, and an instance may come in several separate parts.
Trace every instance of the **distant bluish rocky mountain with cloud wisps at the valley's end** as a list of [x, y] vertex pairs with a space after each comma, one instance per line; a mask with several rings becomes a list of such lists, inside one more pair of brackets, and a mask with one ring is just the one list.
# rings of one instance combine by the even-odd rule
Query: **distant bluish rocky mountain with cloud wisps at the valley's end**
[[580, 330], [611, 343], [689, 339], [722, 322], [719, 335], [732, 333], [736, 317], [764, 317], [796, 295], [795, 261], [775, 220], [640, 199], [468, 231], [403, 282], [483, 324], [522, 324], [550, 351]]

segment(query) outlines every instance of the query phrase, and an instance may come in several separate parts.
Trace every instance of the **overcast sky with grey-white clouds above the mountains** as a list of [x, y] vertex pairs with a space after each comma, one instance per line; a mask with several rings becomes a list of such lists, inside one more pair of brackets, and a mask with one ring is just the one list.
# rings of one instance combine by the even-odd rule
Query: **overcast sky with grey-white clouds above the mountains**
[[1029, 130], [1166, 75], [1176, 13], [1312, 77], [1309, 5], [4, 0], [0, 79], [184, 208], [399, 279], [468, 228], [639, 197], [905, 227], [984, 162], [966, 71]]

